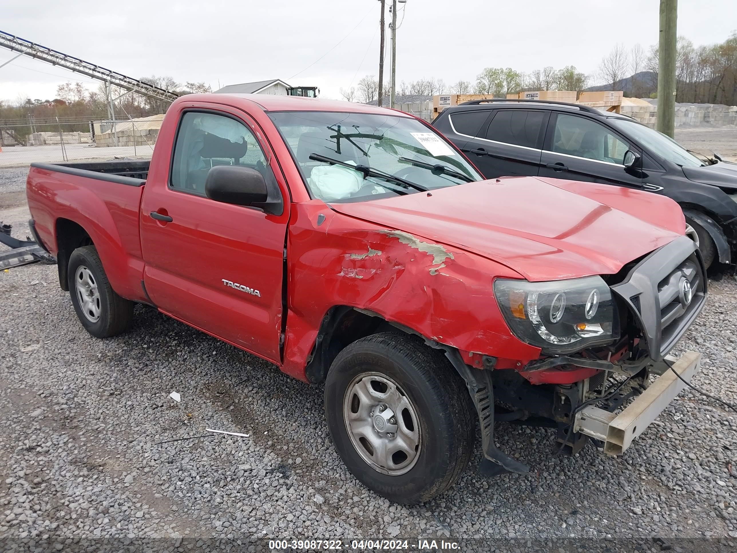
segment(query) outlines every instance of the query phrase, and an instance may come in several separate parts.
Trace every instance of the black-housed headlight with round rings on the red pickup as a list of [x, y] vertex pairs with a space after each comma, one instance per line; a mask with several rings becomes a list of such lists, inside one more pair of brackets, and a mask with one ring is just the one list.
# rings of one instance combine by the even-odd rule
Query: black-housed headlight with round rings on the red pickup
[[619, 338], [617, 305], [601, 277], [497, 279], [494, 293], [514, 335], [548, 352], [576, 352]]

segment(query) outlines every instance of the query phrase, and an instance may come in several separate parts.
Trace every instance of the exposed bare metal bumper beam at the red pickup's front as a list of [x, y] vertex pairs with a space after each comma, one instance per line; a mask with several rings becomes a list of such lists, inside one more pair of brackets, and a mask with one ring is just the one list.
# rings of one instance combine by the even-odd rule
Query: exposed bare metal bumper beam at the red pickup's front
[[[685, 352], [673, 369], [690, 382], [701, 369], [701, 354]], [[595, 406], [584, 408], [576, 415], [574, 429], [604, 442], [604, 453], [621, 455], [684, 388], [685, 383], [673, 371], [666, 370], [619, 414]]]

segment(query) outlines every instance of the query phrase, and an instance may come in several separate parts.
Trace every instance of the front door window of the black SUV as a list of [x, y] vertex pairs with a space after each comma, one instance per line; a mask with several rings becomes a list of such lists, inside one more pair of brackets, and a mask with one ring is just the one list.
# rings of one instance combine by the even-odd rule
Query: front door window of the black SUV
[[627, 150], [629, 144], [604, 125], [584, 117], [558, 114], [553, 152], [622, 164]]

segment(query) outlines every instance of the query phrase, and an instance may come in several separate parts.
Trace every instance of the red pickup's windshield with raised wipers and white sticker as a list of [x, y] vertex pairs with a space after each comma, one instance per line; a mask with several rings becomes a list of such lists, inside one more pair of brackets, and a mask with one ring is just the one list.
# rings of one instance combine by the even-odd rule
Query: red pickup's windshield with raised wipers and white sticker
[[312, 198], [367, 201], [481, 181], [441, 136], [391, 115], [284, 111], [269, 114]]

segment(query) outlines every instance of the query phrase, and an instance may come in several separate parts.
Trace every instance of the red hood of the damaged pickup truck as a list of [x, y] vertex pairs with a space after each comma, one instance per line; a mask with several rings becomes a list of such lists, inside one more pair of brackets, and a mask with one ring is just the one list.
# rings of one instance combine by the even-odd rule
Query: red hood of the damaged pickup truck
[[530, 281], [614, 274], [685, 232], [650, 192], [554, 178], [479, 181], [332, 209], [455, 246]]

